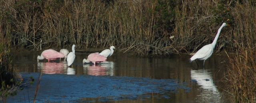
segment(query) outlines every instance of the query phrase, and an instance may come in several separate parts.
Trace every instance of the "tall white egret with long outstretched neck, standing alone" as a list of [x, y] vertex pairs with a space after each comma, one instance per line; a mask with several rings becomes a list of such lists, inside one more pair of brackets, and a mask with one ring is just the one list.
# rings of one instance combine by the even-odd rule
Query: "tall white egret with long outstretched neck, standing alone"
[[[195, 59], [199, 59], [199, 60], [206, 60], [208, 59], [211, 55], [212, 55], [212, 52], [215, 48], [215, 45], [216, 45], [216, 42], [218, 40], [218, 37], [220, 35], [220, 31], [221, 29], [224, 27], [224, 26], [229, 26], [228, 24], [226, 23], [223, 23], [222, 26], [219, 28], [218, 30], [218, 33], [217, 35], [215, 36], [212, 44], [208, 44], [208, 45], [205, 45], [203, 46], [200, 50], [198, 50], [191, 58], [190, 58], [190, 62], [192, 62], [193, 60]], [[197, 66], [198, 66], [198, 63], [196, 62]], [[198, 66], [199, 67], [199, 66]]]

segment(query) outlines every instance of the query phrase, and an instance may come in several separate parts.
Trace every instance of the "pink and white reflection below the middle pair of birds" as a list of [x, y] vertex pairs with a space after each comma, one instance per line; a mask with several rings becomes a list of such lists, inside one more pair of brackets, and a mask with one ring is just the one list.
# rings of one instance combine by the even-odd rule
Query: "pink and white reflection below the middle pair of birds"
[[104, 61], [101, 62], [100, 65], [83, 65], [84, 73], [88, 75], [114, 75], [114, 62], [112, 61]]

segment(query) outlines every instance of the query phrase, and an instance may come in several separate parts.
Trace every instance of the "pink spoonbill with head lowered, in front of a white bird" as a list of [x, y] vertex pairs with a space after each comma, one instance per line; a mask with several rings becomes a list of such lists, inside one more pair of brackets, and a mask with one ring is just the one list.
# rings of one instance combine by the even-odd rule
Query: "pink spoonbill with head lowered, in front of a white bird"
[[87, 59], [83, 60], [83, 63], [94, 63], [94, 65], [96, 65], [96, 63], [100, 63], [102, 61], [106, 61], [107, 58], [100, 55], [99, 53], [91, 53], [90, 55], [88, 55]]

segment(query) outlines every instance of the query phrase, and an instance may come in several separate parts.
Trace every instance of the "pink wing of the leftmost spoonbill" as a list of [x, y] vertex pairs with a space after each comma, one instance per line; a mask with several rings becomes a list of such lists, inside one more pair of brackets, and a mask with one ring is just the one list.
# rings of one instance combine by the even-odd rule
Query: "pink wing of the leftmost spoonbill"
[[59, 57], [60, 58], [65, 57], [65, 55], [63, 53], [60, 53], [60, 52], [55, 51], [55, 50], [45, 50], [42, 54], [46, 59], [56, 59], [56, 58], [59, 58]]

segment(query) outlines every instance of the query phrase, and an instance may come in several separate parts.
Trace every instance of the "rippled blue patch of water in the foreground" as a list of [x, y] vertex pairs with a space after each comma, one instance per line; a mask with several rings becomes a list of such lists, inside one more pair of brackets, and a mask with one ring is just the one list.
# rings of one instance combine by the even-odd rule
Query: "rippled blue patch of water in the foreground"
[[[37, 81], [39, 73], [21, 73], [24, 79], [30, 76]], [[34, 98], [36, 82], [27, 90], [20, 91], [12, 101]], [[37, 101], [50, 102], [76, 101], [82, 98], [101, 98], [100, 101], [110, 99], [137, 100], [146, 93], [163, 93], [168, 91], [178, 92], [177, 89], [190, 89], [185, 83], [178, 83], [172, 79], [151, 79], [143, 77], [115, 77], [93, 75], [66, 75], [42, 74], [40, 88], [36, 96]], [[150, 98], [144, 95], [140, 98]]]

